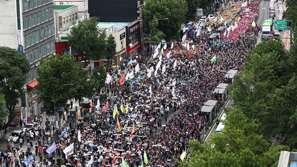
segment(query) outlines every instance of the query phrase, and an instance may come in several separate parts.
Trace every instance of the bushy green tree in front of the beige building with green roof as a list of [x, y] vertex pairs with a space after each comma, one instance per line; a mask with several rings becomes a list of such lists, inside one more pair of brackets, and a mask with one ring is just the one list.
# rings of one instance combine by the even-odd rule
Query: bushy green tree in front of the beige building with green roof
[[99, 30], [98, 23], [97, 17], [79, 21], [67, 35], [72, 52], [86, 56], [85, 67], [87, 60], [102, 57], [106, 52], [105, 30]]

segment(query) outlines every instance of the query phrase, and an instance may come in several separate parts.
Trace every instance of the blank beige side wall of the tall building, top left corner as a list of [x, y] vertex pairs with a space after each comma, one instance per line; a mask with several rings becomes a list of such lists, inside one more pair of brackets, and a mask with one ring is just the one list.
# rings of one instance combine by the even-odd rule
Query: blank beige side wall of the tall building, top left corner
[[0, 0], [0, 46], [18, 48], [16, 0]]

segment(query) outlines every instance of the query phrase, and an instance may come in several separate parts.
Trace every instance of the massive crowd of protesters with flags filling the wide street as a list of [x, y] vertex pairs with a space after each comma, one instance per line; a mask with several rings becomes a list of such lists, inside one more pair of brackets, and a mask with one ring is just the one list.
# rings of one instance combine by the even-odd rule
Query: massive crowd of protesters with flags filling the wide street
[[[241, 9], [238, 3], [232, 6], [234, 12]], [[254, 16], [256, 4], [247, 6]], [[226, 72], [240, 71], [247, 52], [255, 46], [257, 27], [250, 26], [251, 20], [246, 16], [247, 13], [241, 13], [238, 28], [212, 45], [208, 37], [215, 28], [189, 37], [189, 41], [195, 42], [191, 47], [178, 42], [160, 47], [157, 56], [138, 57], [137, 63], [126, 62], [110, 74], [112, 80], [101, 90], [109, 98], [88, 109], [83, 120], [68, 122], [67, 132], [55, 139], [57, 149], [51, 155], [46, 149], [52, 142], [33, 134], [34, 138], [27, 141], [26, 153], [18, 147], [9, 148], [11, 153], [3, 153], [6, 156], [1, 153], [1, 157], [6, 157], [6, 167], [9, 162], [25, 167], [22, 162], [31, 154], [39, 156], [33, 167], [118, 167], [123, 160], [129, 167], [143, 163], [147, 167], [174, 167], [173, 158], [179, 159], [182, 152], [189, 151], [188, 142], [200, 140], [202, 129], [208, 128], [211, 118], [200, 111], [203, 104], [207, 100], [221, 104], [214, 88], [230, 82], [224, 77]], [[214, 56], [216, 60], [211, 63]], [[46, 130], [41, 129], [40, 133], [43, 136]], [[63, 150], [71, 144], [73, 153], [67, 156]], [[17, 156], [12, 150], [18, 158], [13, 158]]]

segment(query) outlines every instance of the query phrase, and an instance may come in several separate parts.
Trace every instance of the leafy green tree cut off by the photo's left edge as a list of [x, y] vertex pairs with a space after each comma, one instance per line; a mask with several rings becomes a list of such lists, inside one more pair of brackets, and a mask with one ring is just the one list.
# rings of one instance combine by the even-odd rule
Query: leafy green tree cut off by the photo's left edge
[[9, 47], [0, 46], [0, 94], [4, 95], [9, 111], [8, 121], [1, 130], [7, 128], [15, 115], [15, 105], [25, 93], [29, 62], [23, 52]]

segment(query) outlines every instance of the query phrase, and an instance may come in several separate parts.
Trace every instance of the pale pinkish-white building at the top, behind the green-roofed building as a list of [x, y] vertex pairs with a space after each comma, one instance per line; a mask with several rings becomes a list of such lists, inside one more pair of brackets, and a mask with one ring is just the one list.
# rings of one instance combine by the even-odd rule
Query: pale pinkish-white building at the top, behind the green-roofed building
[[78, 5], [78, 18], [82, 18], [88, 10], [88, 0], [53, 0], [54, 5]]

